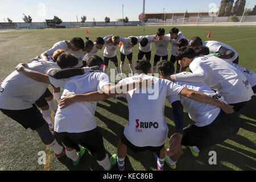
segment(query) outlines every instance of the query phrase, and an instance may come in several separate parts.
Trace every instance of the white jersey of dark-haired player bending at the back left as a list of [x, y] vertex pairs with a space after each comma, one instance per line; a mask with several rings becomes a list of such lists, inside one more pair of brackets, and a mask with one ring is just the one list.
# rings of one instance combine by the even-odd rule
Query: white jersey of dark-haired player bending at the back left
[[74, 68], [79, 68], [82, 66], [82, 58], [84, 57], [84, 51], [79, 50], [79, 51], [72, 51], [72, 49], [68, 48], [67, 45], [68, 40], [63, 40], [60, 42], [57, 42], [53, 45], [53, 47], [49, 50], [46, 51], [47, 55], [52, 57], [53, 53], [57, 50], [57, 49], [63, 49], [65, 51], [68, 51], [69, 53], [71, 53], [73, 56], [76, 56], [79, 59], [79, 63], [77, 65], [75, 65]]

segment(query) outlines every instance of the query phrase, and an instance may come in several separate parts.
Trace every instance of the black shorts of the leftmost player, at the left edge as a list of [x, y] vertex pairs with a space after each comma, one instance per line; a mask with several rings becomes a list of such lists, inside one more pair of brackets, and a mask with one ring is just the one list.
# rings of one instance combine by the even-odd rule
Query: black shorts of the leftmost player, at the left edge
[[[38, 110], [35, 104], [29, 109], [23, 110], [8, 110], [0, 109], [3, 114], [7, 115], [11, 119], [20, 123], [24, 129], [30, 128], [31, 130], [37, 130], [39, 127], [46, 124], [43, 115]], [[47, 124], [48, 125], [48, 124]]]

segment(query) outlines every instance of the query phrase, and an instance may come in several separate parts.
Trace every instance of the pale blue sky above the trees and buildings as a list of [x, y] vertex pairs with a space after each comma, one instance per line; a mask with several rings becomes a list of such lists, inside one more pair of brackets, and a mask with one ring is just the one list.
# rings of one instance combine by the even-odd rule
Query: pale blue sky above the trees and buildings
[[[247, 0], [248, 1], [248, 0]], [[246, 1], [246, 3], [247, 3]], [[220, 6], [221, 0], [146, 0], [146, 13], [163, 12], [184, 12], [188, 11], [209, 11], [210, 3]], [[236, 2], [236, 0], [234, 0]], [[250, 0], [247, 8], [253, 8], [256, 0]], [[110, 21], [127, 16], [129, 20], [138, 20], [138, 15], [142, 13], [143, 0], [0, 0], [0, 22], [4, 22], [9, 17], [14, 22], [23, 22], [23, 13], [32, 17], [32, 22], [44, 22], [45, 19], [52, 19], [54, 15], [59, 16], [64, 22], [76, 21], [86, 15], [88, 22], [94, 19], [104, 21], [109, 16]], [[213, 8], [213, 7], [212, 7]], [[6, 20], [7, 21], [7, 20]]]

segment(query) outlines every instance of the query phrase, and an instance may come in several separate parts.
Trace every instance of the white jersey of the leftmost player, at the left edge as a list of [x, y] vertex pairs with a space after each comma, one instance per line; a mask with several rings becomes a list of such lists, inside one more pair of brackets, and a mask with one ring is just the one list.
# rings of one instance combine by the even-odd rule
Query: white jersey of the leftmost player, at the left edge
[[[52, 69], [60, 67], [52, 61], [33, 61], [27, 68], [48, 74]], [[0, 108], [9, 110], [23, 110], [32, 107], [44, 92], [48, 84], [32, 80], [22, 72], [14, 71], [3, 80], [0, 93]]]

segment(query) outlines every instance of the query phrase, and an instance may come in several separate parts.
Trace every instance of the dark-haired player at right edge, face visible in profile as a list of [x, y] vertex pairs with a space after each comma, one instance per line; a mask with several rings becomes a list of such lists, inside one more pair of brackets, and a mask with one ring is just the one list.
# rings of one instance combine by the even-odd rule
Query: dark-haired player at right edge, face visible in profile
[[188, 67], [193, 74], [172, 75], [171, 81], [205, 82], [238, 112], [254, 95], [246, 77], [226, 61], [216, 56], [197, 57], [190, 47], [177, 51], [176, 59], [182, 67]]

